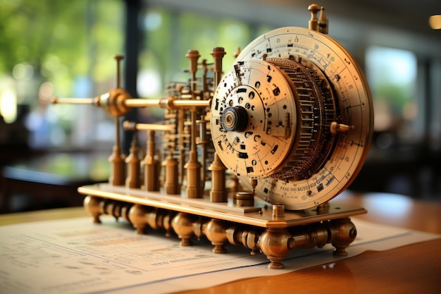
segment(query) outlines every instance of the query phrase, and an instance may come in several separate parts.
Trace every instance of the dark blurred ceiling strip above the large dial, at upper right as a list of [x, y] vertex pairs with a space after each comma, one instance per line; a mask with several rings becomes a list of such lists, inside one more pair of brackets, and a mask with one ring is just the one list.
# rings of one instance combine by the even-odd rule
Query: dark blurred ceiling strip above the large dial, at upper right
[[[308, 0], [144, 0], [172, 8], [228, 16], [276, 27], [307, 27]], [[429, 16], [441, 14], [440, 0], [320, 0], [330, 23], [329, 35], [344, 41], [409, 49], [421, 56], [441, 57], [441, 30]]]

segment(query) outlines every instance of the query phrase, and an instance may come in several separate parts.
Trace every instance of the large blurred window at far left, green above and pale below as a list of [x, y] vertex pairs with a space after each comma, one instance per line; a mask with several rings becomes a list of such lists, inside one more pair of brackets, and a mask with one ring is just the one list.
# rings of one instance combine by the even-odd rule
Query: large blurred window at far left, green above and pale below
[[[0, 0], [0, 145], [92, 147], [109, 140], [106, 114], [51, 97], [94, 97], [115, 87], [122, 53], [120, 0]], [[14, 137], [16, 125], [27, 135]], [[23, 132], [26, 133], [26, 132]]]

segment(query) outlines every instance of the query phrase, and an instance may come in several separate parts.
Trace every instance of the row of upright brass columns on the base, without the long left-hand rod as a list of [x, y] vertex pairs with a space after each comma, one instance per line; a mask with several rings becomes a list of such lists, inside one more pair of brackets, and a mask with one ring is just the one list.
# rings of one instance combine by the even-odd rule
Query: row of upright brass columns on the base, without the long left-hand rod
[[[222, 60], [223, 56], [225, 56], [225, 51], [222, 47], [216, 47], [211, 52], [213, 56], [213, 87], [216, 89], [218, 83], [221, 80], [222, 76]], [[205, 121], [204, 119], [197, 120], [197, 110], [199, 107], [204, 107], [204, 104], [197, 104], [197, 100], [195, 97], [196, 85], [197, 85], [197, 68], [198, 68], [198, 59], [199, 52], [197, 50], [190, 50], [187, 52], [187, 58], [190, 61], [190, 73], [192, 74], [191, 78], [191, 92], [192, 98], [190, 102], [185, 105], [180, 105], [179, 99], [173, 99], [173, 104], [178, 104], [175, 106], [178, 109], [178, 114], [182, 116], [183, 107], [186, 107], [190, 110], [190, 151], [188, 154], [188, 161], [183, 165], [186, 172], [186, 180], [187, 185], [185, 187], [185, 195], [188, 198], [201, 198], [204, 196], [204, 185], [206, 180], [206, 145], [208, 144], [206, 137], [206, 123], [209, 121]], [[165, 100], [164, 100], [165, 101]], [[194, 106], [192, 106], [192, 102]], [[162, 105], [167, 104], [167, 107], [170, 106], [170, 102], [162, 102]], [[190, 105], [190, 106], [186, 106]], [[206, 106], [205, 106], [206, 107]], [[180, 121], [182, 118], [178, 120], [178, 128], [179, 131], [182, 132], [182, 123]], [[197, 124], [199, 124], [199, 142], [197, 142]], [[182, 127], [182, 129], [180, 129]], [[142, 188], [144, 185], [144, 190], [148, 191], [159, 191], [159, 183], [160, 183], [160, 168], [161, 166], [155, 159], [155, 142], [154, 135], [155, 131], [168, 131], [164, 125], [148, 125], [143, 123], [124, 123], [124, 128], [126, 130], [147, 130], [149, 132], [149, 140], [147, 144], [147, 155], [143, 160], [144, 166], [144, 183], [141, 183], [139, 180], [139, 175], [142, 172], [140, 170], [140, 160], [137, 157], [137, 142], [134, 140], [132, 142], [132, 147], [130, 148], [130, 154], [127, 158], [123, 159], [123, 155], [120, 154], [120, 149], [118, 144], [113, 147], [113, 154], [109, 158], [111, 161], [111, 178], [109, 178], [109, 183], [111, 185], [126, 185], [129, 188]], [[118, 135], [118, 134], [117, 134]], [[181, 133], [182, 135], [182, 133]], [[136, 136], [134, 136], [135, 138]], [[118, 142], [118, 140], [117, 140]], [[197, 145], [201, 145], [201, 161], [202, 164], [198, 160], [198, 152]], [[183, 149], [182, 145], [178, 145]], [[181, 150], [182, 151], [182, 150]], [[169, 154], [166, 154], [166, 160], [163, 161], [162, 166], [164, 167], [164, 189], [167, 194], [179, 195], [180, 194], [180, 183], [179, 183], [179, 163], [173, 157], [173, 150], [170, 149]], [[183, 157], [180, 157], [183, 160]], [[124, 161], [127, 166], [124, 166]], [[213, 163], [209, 166], [209, 171], [211, 171], [211, 191], [210, 191], [210, 199], [212, 202], [227, 202], [228, 201], [228, 193], [225, 187], [225, 166], [219, 159], [217, 154], [214, 154]], [[125, 176], [125, 171], [127, 170], [127, 176]], [[182, 171], [181, 171], [182, 173]], [[181, 183], [182, 183], [182, 174], [181, 174]]]

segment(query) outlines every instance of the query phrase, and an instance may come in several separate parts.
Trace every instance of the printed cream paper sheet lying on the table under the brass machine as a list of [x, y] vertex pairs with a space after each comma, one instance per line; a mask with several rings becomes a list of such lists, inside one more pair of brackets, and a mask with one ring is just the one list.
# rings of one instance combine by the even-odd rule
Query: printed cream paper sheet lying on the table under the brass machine
[[[206, 239], [183, 247], [175, 235], [168, 238], [151, 230], [137, 235], [125, 221], [111, 216], [101, 216], [101, 221], [80, 218], [1, 226], [0, 293], [170, 293], [342, 258], [331, 253], [331, 245], [294, 249], [283, 261], [286, 269], [274, 270], [268, 269], [265, 255], [251, 256], [243, 247], [227, 245], [227, 254], [215, 254]], [[358, 237], [347, 248], [348, 257], [440, 238], [352, 221]]]

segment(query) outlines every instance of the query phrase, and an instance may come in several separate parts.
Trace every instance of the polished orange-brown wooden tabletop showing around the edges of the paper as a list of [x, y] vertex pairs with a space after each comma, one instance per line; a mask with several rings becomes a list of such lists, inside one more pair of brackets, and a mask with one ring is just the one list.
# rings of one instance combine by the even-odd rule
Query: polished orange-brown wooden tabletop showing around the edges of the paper
[[[336, 201], [361, 205], [367, 221], [441, 234], [441, 202], [390, 194], [344, 193]], [[0, 225], [85, 216], [82, 208], [0, 215]], [[441, 238], [382, 252], [368, 251], [299, 271], [248, 278], [179, 293], [441, 293]]]

